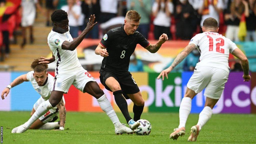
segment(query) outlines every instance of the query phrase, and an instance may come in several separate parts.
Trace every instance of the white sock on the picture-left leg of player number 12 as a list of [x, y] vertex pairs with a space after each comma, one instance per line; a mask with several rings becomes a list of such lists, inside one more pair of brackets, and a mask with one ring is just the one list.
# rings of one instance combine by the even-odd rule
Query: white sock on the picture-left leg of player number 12
[[185, 127], [188, 115], [191, 111], [191, 101], [189, 97], [184, 97], [180, 103], [179, 107], [179, 127]]

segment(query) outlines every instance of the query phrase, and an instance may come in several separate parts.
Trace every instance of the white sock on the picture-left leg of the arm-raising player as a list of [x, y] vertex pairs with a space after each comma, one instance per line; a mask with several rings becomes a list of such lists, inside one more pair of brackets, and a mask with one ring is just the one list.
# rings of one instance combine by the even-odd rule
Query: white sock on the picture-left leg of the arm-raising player
[[26, 127], [30, 127], [39, 117], [44, 115], [49, 109], [53, 108], [49, 102], [49, 100], [42, 102], [34, 114], [30, 117], [30, 119], [25, 122]]

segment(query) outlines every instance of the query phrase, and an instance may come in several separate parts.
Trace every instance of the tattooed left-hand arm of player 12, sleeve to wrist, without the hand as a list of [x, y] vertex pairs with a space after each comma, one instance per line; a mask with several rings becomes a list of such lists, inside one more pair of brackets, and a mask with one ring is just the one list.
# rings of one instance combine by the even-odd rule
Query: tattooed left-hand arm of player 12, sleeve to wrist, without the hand
[[174, 59], [172, 65], [170, 67], [174, 68], [176, 67], [187, 55], [192, 52], [196, 48], [196, 45], [189, 44], [187, 45]]

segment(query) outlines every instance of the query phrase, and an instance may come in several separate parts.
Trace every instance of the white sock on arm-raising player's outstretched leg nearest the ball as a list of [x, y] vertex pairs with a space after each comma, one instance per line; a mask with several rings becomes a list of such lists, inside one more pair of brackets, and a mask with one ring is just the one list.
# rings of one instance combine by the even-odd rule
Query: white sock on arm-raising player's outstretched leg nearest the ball
[[119, 121], [118, 117], [116, 116], [115, 111], [113, 110], [112, 105], [110, 104], [109, 100], [107, 99], [106, 95], [104, 94], [100, 98], [97, 99], [100, 108], [106, 112], [109, 116], [110, 120], [113, 122], [115, 128], [120, 128], [122, 126], [121, 122]]

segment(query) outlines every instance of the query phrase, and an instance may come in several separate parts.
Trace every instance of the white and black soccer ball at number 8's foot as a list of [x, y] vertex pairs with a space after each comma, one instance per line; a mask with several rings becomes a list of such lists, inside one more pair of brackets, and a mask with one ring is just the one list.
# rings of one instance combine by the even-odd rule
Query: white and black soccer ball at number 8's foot
[[140, 122], [140, 126], [138, 126], [138, 128], [136, 128], [136, 134], [137, 135], [149, 135], [151, 132], [151, 124], [149, 121], [145, 120], [145, 119], [140, 119], [137, 122]]

